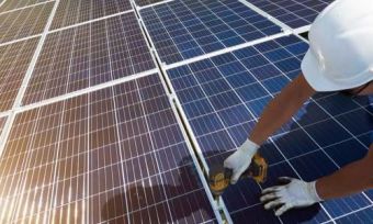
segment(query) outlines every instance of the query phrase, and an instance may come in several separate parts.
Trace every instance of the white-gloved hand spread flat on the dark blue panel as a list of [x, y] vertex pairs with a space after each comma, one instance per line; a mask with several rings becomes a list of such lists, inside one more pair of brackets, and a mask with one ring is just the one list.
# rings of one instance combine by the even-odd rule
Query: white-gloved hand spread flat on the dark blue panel
[[264, 209], [275, 209], [274, 214], [278, 216], [290, 209], [309, 206], [323, 201], [316, 192], [316, 181], [305, 182], [289, 177], [281, 177], [279, 180], [289, 183], [267, 188], [260, 198], [260, 201], [264, 202]]

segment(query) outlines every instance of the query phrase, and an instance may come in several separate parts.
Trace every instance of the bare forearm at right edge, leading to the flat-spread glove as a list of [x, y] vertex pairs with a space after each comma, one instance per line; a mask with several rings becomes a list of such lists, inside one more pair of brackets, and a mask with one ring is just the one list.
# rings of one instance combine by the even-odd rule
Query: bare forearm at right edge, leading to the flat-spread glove
[[[353, 150], [353, 148], [351, 148]], [[373, 188], [373, 144], [366, 156], [316, 181], [318, 195], [334, 199]], [[336, 184], [338, 183], [338, 184]]]

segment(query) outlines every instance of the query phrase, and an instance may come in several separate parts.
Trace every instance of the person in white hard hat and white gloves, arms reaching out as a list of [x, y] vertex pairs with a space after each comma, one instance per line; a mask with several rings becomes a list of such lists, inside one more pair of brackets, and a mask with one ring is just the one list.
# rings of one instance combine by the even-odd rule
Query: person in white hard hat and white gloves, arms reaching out
[[[316, 92], [373, 93], [371, 0], [335, 1], [316, 18], [308, 36], [309, 49], [301, 64], [302, 72], [267, 105], [249, 138], [224, 161], [225, 167], [233, 169], [231, 183], [249, 167], [260, 145]], [[274, 209], [275, 215], [281, 215], [293, 208], [371, 189], [372, 170], [373, 144], [362, 159], [315, 181], [280, 178], [287, 183], [262, 190], [260, 201], [264, 209]]]

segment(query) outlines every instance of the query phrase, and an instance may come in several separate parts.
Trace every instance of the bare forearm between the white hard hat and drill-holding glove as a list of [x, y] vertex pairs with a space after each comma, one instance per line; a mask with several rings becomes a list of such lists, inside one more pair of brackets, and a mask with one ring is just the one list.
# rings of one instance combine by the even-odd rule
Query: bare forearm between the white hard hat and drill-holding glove
[[286, 123], [314, 93], [315, 90], [312, 89], [301, 74], [267, 105], [249, 138], [261, 145], [271, 134]]

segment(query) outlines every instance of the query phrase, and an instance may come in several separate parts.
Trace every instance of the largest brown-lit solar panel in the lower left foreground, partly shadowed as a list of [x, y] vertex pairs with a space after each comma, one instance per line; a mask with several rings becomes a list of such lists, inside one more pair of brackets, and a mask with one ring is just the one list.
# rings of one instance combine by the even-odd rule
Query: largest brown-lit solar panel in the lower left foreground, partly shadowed
[[2, 223], [215, 223], [158, 75], [19, 113]]

